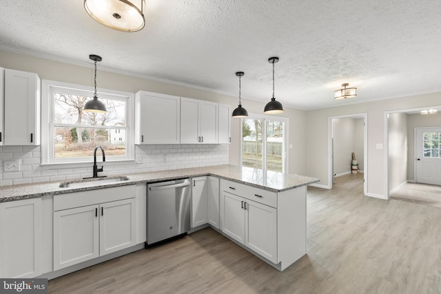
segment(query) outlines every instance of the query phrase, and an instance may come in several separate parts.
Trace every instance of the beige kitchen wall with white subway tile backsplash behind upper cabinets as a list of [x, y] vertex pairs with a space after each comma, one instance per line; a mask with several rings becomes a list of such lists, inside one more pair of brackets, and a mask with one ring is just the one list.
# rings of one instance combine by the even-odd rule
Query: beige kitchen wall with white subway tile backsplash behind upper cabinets
[[[87, 56], [85, 57], [87, 60]], [[92, 86], [94, 68], [91, 63], [85, 61], [83, 66], [52, 61], [26, 54], [18, 54], [0, 50], [0, 67], [13, 70], [36, 72], [41, 79], [61, 81], [79, 85]], [[232, 70], [234, 72], [234, 70]], [[139, 90], [183, 96], [187, 98], [214, 101], [231, 105], [232, 109], [237, 107], [238, 98], [209, 92], [194, 87], [185, 87], [173, 83], [162, 83], [159, 81], [147, 80], [135, 76], [127, 76], [114, 72], [97, 71], [97, 83], [99, 88], [136, 93]], [[269, 93], [271, 94], [271, 93]], [[268, 96], [270, 98], [270, 96]], [[269, 100], [268, 98], [268, 100]], [[264, 102], [242, 99], [243, 106], [248, 112], [263, 113]], [[288, 149], [289, 173], [306, 173], [306, 112], [302, 110], [285, 107], [284, 117], [289, 118], [289, 144], [293, 146]], [[156, 169], [172, 169], [189, 166], [207, 166], [219, 164], [240, 164], [240, 120], [232, 119], [232, 143], [229, 145], [152, 145], [151, 147], [136, 147], [136, 163], [132, 165], [105, 165], [107, 173], [117, 174], [141, 172]], [[92, 173], [91, 167], [79, 169], [50, 169], [45, 170], [39, 167], [41, 162], [40, 147], [0, 147], [0, 185], [10, 185], [21, 182], [38, 182], [43, 180], [63, 180], [64, 178], [81, 177], [84, 174]], [[152, 154], [150, 155], [151, 152]], [[160, 162], [161, 154], [169, 154], [169, 158], [175, 158], [174, 162]], [[140, 159], [142, 158], [142, 160]], [[20, 160], [21, 171], [18, 173], [4, 173], [3, 160]], [[92, 165], [91, 165], [92, 166]], [[106, 173], [104, 173], [106, 174]]]

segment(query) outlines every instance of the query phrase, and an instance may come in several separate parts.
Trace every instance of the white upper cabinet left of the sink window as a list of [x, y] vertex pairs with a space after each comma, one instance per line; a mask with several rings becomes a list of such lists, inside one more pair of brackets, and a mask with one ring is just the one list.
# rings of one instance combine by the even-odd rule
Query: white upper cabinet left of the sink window
[[37, 74], [5, 70], [4, 145], [40, 145], [41, 83]]

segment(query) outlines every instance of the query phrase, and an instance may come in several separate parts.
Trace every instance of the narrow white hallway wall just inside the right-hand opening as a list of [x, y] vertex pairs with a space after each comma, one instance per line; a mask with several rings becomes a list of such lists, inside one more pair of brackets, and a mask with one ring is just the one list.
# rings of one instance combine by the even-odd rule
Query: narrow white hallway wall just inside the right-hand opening
[[407, 181], [407, 114], [389, 114], [389, 191]]

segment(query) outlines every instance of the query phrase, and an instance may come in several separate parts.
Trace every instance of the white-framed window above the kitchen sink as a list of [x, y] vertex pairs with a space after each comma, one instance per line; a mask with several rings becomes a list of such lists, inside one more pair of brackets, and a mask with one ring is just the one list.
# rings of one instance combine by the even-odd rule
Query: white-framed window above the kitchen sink
[[106, 161], [134, 158], [130, 144], [134, 138], [130, 132], [134, 95], [110, 90], [99, 92], [99, 99], [107, 108], [104, 114], [83, 111], [92, 96], [93, 91], [81, 85], [43, 81], [43, 164], [90, 162], [96, 146], [103, 147]]

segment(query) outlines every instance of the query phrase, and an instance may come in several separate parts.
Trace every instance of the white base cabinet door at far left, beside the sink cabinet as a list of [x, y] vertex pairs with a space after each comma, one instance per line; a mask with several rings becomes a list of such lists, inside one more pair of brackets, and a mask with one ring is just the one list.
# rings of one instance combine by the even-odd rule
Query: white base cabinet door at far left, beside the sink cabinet
[[41, 198], [0, 204], [0, 277], [41, 275]]

